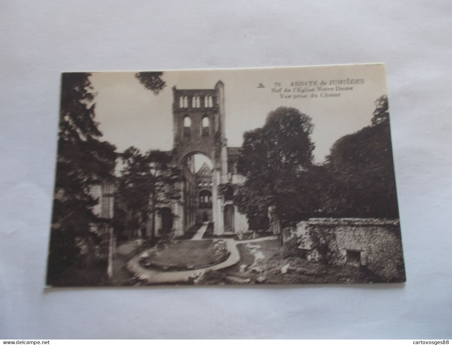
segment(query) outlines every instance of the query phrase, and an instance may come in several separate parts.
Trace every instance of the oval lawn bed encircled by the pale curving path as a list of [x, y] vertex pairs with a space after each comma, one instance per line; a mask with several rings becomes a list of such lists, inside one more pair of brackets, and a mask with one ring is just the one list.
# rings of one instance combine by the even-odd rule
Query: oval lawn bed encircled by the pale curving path
[[187, 271], [220, 264], [229, 254], [222, 240], [178, 241], [153, 251], [140, 264], [159, 271]]

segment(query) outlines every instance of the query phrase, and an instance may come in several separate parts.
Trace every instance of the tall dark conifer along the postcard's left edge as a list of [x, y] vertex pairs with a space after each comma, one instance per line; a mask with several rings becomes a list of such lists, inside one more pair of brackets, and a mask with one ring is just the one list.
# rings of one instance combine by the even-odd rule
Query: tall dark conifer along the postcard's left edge
[[63, 73], [61, 77], [49, 278], [80, 261], [76, 240], [89, 243], [95, 239], [90, 225], [99, 221], [92, 211], [98, 200], [90, 188], [114, 178], [115, 147], [99, 140], [102, 134], [94, 120], [95, 95], [89, 77], [89, 73]]

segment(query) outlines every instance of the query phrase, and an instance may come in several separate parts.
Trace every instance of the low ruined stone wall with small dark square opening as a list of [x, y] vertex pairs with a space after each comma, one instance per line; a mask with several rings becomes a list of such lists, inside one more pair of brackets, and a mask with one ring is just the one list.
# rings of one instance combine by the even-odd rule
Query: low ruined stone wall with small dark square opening
[[399, 220], [311, 218], [283, 233], [285, 240], [296, 237], [311, 260], [365, 266], [386, 280], [403, 270]]

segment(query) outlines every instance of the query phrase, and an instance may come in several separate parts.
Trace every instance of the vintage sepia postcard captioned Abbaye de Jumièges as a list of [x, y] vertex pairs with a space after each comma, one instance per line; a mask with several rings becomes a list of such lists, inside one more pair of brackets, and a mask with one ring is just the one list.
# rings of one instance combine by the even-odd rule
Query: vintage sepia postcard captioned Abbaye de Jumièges
[[62, 73], [47, 286], [400, 283], [382, 64]]

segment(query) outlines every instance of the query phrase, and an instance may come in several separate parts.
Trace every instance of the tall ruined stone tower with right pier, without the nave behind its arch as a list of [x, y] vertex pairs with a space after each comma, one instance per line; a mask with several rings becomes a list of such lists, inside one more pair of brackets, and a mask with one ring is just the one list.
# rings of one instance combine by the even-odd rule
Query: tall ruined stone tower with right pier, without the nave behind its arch
[[[225, 137], [224, 84], [213, 89], [173, 87], [173, 149], [175, 164], [183, 168], [193, 154], [203, 154], [212, 162], [212, 221], [214, 233], [224, 231], [224, 197], [218, 186], [228, 181]], [[184, 219], [184, 207], [176, 216]]]

